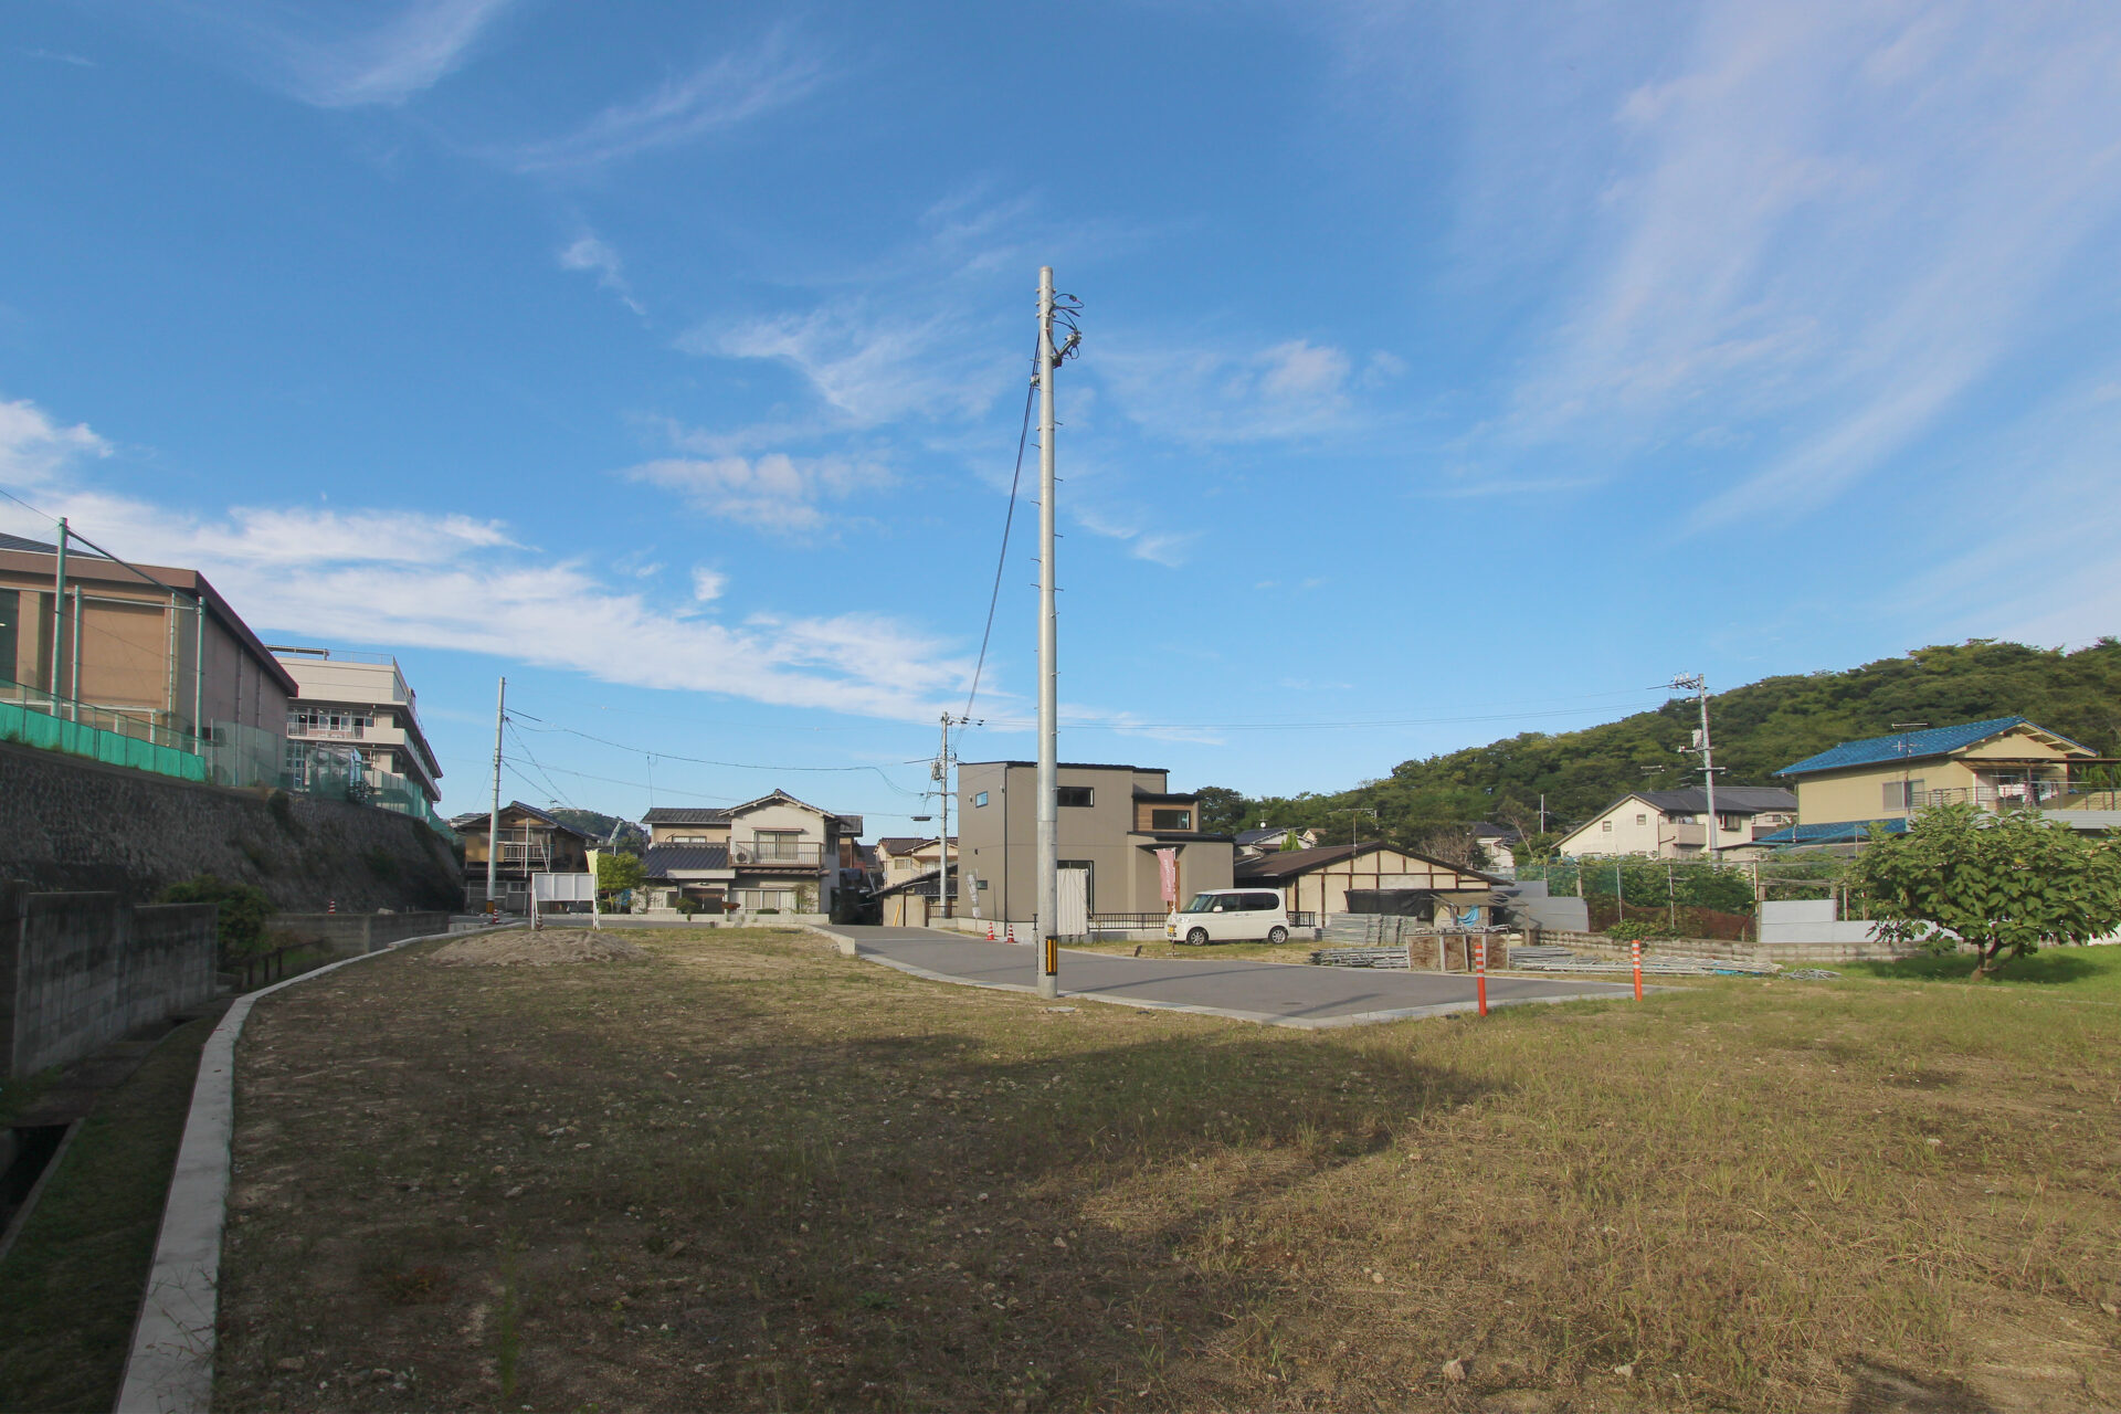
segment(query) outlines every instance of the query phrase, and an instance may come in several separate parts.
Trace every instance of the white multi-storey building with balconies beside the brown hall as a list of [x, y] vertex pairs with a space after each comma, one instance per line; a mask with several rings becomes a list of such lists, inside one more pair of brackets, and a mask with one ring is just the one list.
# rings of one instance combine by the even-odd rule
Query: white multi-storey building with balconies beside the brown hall
[[344, 746], [367, 765], [409, 780], [428, 806], [441, 799], [441, 763], [395, 657], [282, 647], [274, 655], [299, 689], [286, 708], [286, 767], [297, 782], [312, 746]]

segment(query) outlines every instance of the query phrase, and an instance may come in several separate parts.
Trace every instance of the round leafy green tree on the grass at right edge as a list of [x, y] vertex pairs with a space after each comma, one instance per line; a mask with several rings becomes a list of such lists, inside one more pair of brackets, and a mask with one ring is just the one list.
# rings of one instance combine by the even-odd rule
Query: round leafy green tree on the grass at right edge
[[2038, 810], [1936, 806], [1905, 835], [1871, 827], [1852, 871], [1879, 937], [1932, 952], [1975, 950], [1975, 977], [2047, 943], [2085, 943], [2121, 924], [2121, 848]]

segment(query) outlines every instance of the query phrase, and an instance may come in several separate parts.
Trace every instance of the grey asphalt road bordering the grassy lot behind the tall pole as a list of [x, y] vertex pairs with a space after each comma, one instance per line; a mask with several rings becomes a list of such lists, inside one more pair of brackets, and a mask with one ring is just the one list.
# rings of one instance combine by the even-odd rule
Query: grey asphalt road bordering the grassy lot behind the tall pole
[[[1037, 948], [986, 943], [933, 929], [825, 929], [851, 941], [857, 956], [937, 982], [1035, 990]], [[1377, 971], [1368, 967], [1300, 967], [1217, 958], [1198, 962], [1126, 958], [1109, 952], [1060, 950], [1063, 998], [1116, 1001], [1135, 1007], [1205, 1011], [1277, 1026], [1351, 1026], [1408, 1015], [1442, 1015], [1474, 1007], [1466, 975]], [[1627, 996], [1625, 984], [1489, 977], [1487, 1005]]]

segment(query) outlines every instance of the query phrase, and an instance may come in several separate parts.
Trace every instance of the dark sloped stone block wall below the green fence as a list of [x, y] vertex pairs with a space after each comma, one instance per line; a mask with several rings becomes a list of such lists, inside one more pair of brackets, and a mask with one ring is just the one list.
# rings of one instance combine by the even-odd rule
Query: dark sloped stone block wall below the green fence
[[450, 844], [414, 820], [286, 791], [233, 791], [0, 742], [0, 880], [148, 903], [197, 873], [288, 912], [456, 909]]

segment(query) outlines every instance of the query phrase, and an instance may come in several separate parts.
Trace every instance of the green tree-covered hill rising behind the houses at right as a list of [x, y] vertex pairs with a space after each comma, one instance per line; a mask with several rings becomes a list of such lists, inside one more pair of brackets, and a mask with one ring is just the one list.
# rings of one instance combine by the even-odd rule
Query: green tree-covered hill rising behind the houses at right
[[[2030, 717], [2100, 755], [2121, 755], [2121, 640], [2089, 649], [2030, 649], [1973, 638], [1917, 649], [1847, 672], [1760, 678], [1710, 697], [1722, 784], [1777, 784], [1777, 767], [1837, 742], [1888, 736], [1894, 723], [1945, 727], [1983, 717]], [[1548, 829], [1570, 829], [1627, 791], [1699, 784], [1699, 759], [1682, 755], [1699, 721], [1693, 697], [1582, 731], [1527, 731], [1423, 761], [1402, 761], [1381, 780], [1332, 795], [1245, 797], [1203, 791], [1203, 829], [1260, 825], [1315, 827], [1347, 839], [1349, 808], [1379, 812], [1364, 837], [1457, 854], [1478, 820], [1538, 829], [1540, 793]]]

